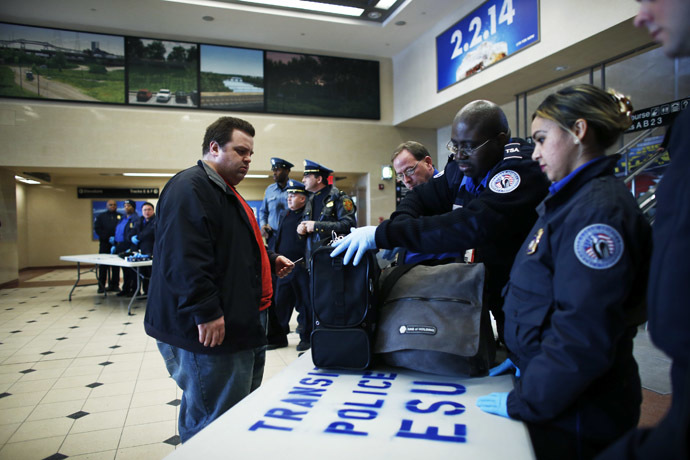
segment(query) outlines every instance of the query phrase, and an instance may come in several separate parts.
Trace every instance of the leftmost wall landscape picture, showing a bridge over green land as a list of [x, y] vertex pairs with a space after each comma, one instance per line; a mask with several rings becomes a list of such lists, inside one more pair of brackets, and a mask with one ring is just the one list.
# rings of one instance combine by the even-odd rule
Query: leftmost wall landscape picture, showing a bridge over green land
[[0, 96], [124, 103], [124, 38], [0, 23]]

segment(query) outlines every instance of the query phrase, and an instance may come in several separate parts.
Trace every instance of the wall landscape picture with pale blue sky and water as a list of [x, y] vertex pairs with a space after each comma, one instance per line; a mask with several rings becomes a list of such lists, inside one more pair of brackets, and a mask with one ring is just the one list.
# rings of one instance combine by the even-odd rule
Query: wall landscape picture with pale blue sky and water
[[201, 45], [201, 107], [263, 112], [264, 52]]

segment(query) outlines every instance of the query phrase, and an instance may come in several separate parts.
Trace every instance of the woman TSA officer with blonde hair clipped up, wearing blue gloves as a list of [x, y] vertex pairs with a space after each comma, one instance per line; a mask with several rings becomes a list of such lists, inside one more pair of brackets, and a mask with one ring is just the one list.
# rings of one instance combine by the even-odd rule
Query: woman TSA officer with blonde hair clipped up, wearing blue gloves
[[519, 369], [510, 393], [477, 400], [523, 420], [537, 458], [588, 459], [637, 425], [633, 337], [645, 320], [651, 229], [606, 156], [631, 124], [622, 96], [591, 85], [548, 96], [532, 122], [552, 185], [515, 259], [505, 341]]

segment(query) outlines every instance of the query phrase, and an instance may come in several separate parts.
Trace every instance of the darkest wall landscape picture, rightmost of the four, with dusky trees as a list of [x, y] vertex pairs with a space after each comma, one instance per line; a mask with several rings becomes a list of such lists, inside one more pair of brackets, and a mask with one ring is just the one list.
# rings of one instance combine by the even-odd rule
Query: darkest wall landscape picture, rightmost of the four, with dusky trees
[[380, 118], [379, 63], [266, 51], [266, 111]]

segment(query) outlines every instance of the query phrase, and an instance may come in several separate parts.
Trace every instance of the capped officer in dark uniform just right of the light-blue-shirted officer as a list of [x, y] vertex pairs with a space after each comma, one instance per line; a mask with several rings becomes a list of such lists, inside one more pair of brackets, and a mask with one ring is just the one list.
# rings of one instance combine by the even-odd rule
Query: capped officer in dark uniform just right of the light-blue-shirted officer
[[[297, 322], [299, 326], [297, 329], [300, 335], [297, 351], [306, 351], [309, 349], [309, 336], [313, 326], [311, 324], [311, 311], [307, 308], [309, 305], [309, 273], [304, 260], [306, 239], [297, 234], [297, 226], [302, 221], [302, 213], [309, 192], [304, 188], [303, 183], [292, 179], [288, 181], [286, 190], [289, 210], [284, 213], [276, 234], [276, 251], [280, 251], [280, 254], [292, 261], [302, 260], [295, 263], [295, 267], [289, 275], [278, 279], [276, 282], [274, 306], [277, 324], [271, 325], [269, 322], [268, 335], [275, 337], [282, 334], [287, 342], [287, 334], [290, 332], [290, 317], [294, 307], [298, 313]], [[278, 331], [272, 332], [272, 329], [278, 329]]]

